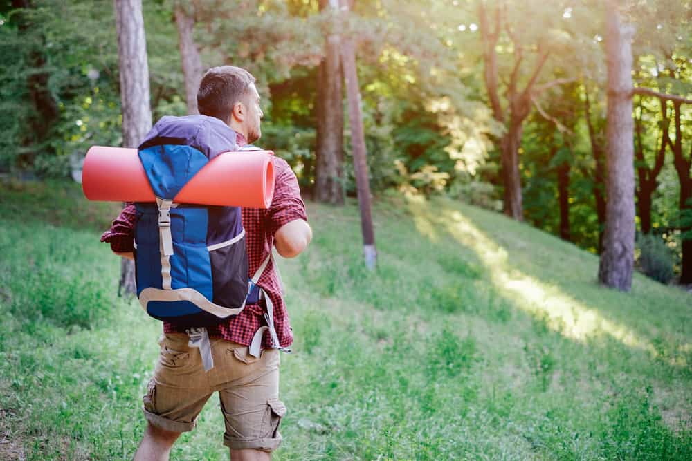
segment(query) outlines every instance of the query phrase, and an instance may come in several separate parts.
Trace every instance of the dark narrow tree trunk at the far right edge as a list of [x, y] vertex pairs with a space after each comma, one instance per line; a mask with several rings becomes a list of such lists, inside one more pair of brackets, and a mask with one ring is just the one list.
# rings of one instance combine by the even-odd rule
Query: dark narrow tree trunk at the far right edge
[[[668, 144], [673, 151], [673, 165], [680, 180], [680, 198], [678, 207], [680, 216], [692, 214], [692, 152], [690, 158], [685, 158], [682, 152], [682, 120], [680, 117], [680, 102], [673, 101], [673, 114], [675, 117], [675, 142], [668, 137]], [[680, 226], [683, 233], [691, 232], [692, 226], [683, 224]], [[687, 285], [692, 283], [692, 238], [682, 239], [682, 272], [680, 283]]]

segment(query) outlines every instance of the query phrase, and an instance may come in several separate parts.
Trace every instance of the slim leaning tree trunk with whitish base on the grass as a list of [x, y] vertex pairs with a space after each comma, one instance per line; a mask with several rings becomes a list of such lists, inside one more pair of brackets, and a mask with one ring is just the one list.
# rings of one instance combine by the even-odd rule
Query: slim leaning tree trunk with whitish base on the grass
[[[340, 0], [340, 6], [345, 14], [348, 14], [348, 0]], [[341, 66], [343, 67], [344, 79], [346, 81], [353, 164], [356, 172], [356, 187], [358, 187], [358, 203], [361, 206], [363, 255], [365, 256], [366, 267], [372, 270], [377, 263], [377, 250], [375, 247], [375, 234], [372, 229], [372, 212], [370, 211], [370, 180], [367, 173], [365, 133], [363, 132], [363, 115], [361, 113], [361, 91], [358, 89], [358, 73], [356, 72], [356, 46], [351, 37], [346, 37], [341, 44]]]

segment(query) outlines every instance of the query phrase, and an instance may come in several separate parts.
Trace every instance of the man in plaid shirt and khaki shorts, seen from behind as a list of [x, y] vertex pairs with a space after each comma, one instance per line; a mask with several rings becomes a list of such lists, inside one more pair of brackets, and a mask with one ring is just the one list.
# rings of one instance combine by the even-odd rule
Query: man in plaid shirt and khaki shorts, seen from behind
[[[242, 147], [260, 139], [260, 95], [255, 77], [242, 68], [211, 68], [202, 78], [197, 105], [200, 126]], [[206, 117], [204, 117], [206, 116]], [[298, 256], [310, 243], [298, 180], [289, 165], [273, 158], [275, 191], [268, 209], [242, 209], [246, 229], [248, 273], [254, 274], [276, 247], [284, 258]], [[113, 227], [101, 240], [111, 243], [116, 254], [132, 258], [134, 205], [123, 209]], [[281, 348], [290, 346], [293, 335], [282, 299], [280, 279], [273, 261], [257, 283], [274, 306], [274, 327]], [[249, 354], [253, 335], [262, 327], [266, 301], [246, 305], [235, 317], [208, 328], [214, 368], [206, 372], [199, 348], [188, 345], [184, 328], [164, 323], [159, 344], [161, 355], [154, 378], [143, 397], [147, 429], [135, 460], [167, 460], [170, 449], [182, 432], [194, 429], [197, 415], [207, 399], [219, 392], [226, 422], [224, 444], [231, 460], [269, 460], [281, 442], [278, 425], [284, 404], [278, 399], [279, 351], [270, 348], [265, 337], [260, 357]]]

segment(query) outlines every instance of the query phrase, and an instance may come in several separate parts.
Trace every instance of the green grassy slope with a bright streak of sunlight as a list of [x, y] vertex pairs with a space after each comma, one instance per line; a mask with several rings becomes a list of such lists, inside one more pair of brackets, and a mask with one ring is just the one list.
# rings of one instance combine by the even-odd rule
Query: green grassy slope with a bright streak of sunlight
[[[116, 296], [98, 236], [117, 204], [0, 185], [0, 459], [131, 459], [161, 324]], [[690, 460], [692, 294], [451, 200], [308, 204], [280, 261], [295, 342], [277, 460]], [[217, 399], [175, 460], [226, 460]]]

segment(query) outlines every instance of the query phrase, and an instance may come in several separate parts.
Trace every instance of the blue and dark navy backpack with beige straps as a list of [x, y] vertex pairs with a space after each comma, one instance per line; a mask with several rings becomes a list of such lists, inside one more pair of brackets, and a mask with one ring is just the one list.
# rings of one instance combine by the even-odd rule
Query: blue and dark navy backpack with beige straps
[[[136, 203], [137, 296], [156, 319], [213, 326], [260, 297], [257, 281], [271, 256], [248, 279], [240, 207], [173, 203], [212, 158], [239, 150], [235, 139], [235, 131], [214, 117], [163, 117], [138, 148], [156, 204]], [[271, 301], [268, 310], [271, 317]], [[273, 318], [267, 321], [264, 329], [275, 342]]]

